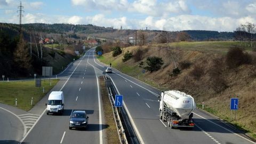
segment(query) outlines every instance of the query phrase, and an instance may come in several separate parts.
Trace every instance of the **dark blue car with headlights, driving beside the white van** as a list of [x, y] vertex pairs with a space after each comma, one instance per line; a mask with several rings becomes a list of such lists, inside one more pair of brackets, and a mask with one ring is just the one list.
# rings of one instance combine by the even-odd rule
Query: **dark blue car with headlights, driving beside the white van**
[[74, 110], [69, 118], [69, 130], [74, 128], [86, 128], [88, 125], [89, 116], [85, 110]]

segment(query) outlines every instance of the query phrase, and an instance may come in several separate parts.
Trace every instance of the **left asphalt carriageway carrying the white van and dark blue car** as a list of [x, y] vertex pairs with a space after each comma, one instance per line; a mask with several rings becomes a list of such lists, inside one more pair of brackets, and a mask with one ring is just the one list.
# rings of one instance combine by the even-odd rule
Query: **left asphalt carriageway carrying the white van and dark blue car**
[[[108, 125], [101, 124], [97, 76], [94, 68], [87, 63], [89, 55], [87, 52], [60, 75], [66, 77], [59, 89], [65, 97], [63, 115], [46, 115], [44, 111], [22, 143], [102, 143], [102, 129]], [[44, 103], [41, 102], [41, 105]], [[89, 116], [86, 130], [69, 130], [72, 110], [86, 110]]]

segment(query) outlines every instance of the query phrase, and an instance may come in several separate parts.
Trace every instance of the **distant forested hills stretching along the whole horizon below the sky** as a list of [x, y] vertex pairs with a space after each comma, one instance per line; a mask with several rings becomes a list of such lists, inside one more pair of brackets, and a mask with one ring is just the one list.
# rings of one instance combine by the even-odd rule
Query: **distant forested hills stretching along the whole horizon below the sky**
[[[79, 38], [78, 36], [87, 35], [87, 34], [105, 34], [118, 31], [118, 29], [113, 29], [111, 27], [99, 27], [93, 25], [71, 25], [71, 24], [45, 24], [45, 23], [29, 23], [23, 24], [23, 33], [28, 33], [28, 31], [35, 31], [36, 33], [42, 32], [45, 34], [68, 34], [70, 37]], [[13, 31], [18, 32], [18, 25], [10, 23], [0, 23], [0, 30], [10, 30], [9, 35], [15, 35]], [[122, 36], [124, 37], [127, 33], [127, 36], [132, 33], [131, 30], [123, 30]], [[125, 32], [126, 31], [126, 32]], [[135, 33], [135, 30], [132, 30]], [[159, 33], [161, 30], [147, 30], [149, 33]], [[183, 30], [191, 36], [192, 41], [227, 41], [233, 39], [233, 32], [218, 32], [210, 30]], [[173, 31], [173, 34], [177, 34], [179, 31]], [[82, 35], [79, 35], [82, 34]], [[121, 34], [121, 33], [119, 33]], [[26, 37], [26, 36], [25, 36]], [[84, 36], [82, 36], [84, 37]], [[121, 37], [121, 36], [115, 36]], [[113, 38], [113, 36], [109, 37]]]

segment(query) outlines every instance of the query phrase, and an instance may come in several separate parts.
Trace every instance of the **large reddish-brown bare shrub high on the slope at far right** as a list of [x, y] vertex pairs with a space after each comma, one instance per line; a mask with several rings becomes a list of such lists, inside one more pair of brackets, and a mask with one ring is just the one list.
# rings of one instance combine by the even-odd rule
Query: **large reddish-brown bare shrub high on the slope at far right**
[[252, 58], [248, 53], [244, 53], [239, 47], [229, 49], [226, 55], [226, 63], [230, 69], [237, 68], [244, 64], [250, 64]]

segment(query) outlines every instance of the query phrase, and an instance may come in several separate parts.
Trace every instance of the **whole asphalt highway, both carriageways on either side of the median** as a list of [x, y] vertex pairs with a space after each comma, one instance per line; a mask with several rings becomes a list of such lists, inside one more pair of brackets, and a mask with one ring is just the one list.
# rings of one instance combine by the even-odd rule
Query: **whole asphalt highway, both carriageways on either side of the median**
[[[94, 49], [87, 51], [83, 57], [59, 75], [61, 79], [54, 86], [53, 91], [63, 91], [65, 94], [63, 115], [46, 115], [45, 103], [48, 93], [28, 113], [21, 111], [17, 114], [20, 117], [26, 114], [33, 114], [34, 117], [38, 115], [25, 135], [23, 124], [19, 119], [15, 115], [6, 114], [6, 110], [0, 109], [1, 114], [9, 115], [7, 119], [13, 119], [13, 122], [7, 123], [5, 118], [0, 118], [0, 122], [5, 122], [4, 125], [6, 125], [2, 130], [12, 133], [12, 135], [4, 135], [1, 132], [0, 142], [5, 143], [10, 140], [9, 143], [17, 143], [17, 141], [22, 143], [106, 143], [104, 138], [108, 125], [102, 117], [103, 111], [97, 84], [97, 76], [102, 75], [106, 65], [90, 54], [93, 51]], [[243, 134], [219, 119], [198, 109], [194, 113], [196, 126], [193, 130], [166, 127], [167, 123], [159, 120], [157, 95], [161, 91], [114, 68], [113, 70], [114, 73], [107, 75], [113, 79], [118, 93], [124, 96], [124, 106], [127, 108], [140, 143], [255, 143], [244, 138]], [[89, 115], [89, 125], [86, 130], [69, 130], [69, 116], [74, 109], [86, 110]]]

